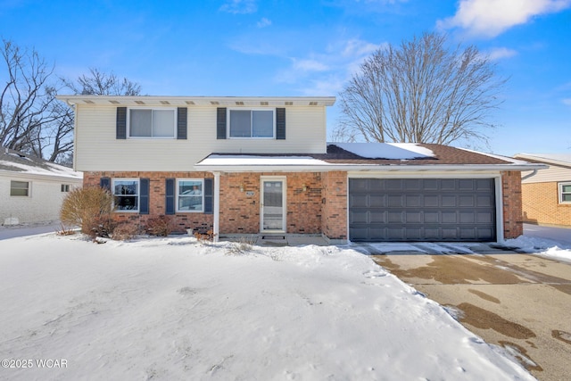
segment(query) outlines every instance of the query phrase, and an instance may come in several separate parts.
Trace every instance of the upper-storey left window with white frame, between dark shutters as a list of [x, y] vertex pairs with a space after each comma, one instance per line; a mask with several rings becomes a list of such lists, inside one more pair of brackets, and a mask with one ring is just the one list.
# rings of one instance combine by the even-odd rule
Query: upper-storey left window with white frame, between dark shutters
[[174, 109], [129, 109], [128, 137], [176, 137]]

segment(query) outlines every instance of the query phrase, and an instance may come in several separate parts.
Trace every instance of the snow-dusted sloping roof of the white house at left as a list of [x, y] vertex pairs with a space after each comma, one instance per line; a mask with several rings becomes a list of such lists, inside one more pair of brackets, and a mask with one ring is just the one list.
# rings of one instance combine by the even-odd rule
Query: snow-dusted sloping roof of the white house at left
[[2, 148], [0, 174], [81, 180], [83, 173], [18, 151]]

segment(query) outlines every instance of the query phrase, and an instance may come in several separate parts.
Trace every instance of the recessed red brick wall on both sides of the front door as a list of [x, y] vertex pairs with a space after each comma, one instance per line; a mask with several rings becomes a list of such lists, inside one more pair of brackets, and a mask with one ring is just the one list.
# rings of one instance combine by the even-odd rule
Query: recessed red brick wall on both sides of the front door
[[[220, 176], [220, 234], [260, 233], [261, 177], [285, 176], [286, 233], [321, 232], [321, 174], [314, 172], [228, 173]], [[303, 186], [305, 185], [305, 191]], [[241, 191], [240, 187], [244, 188]], [[252, 192], [253, 195], [248, 195]]]

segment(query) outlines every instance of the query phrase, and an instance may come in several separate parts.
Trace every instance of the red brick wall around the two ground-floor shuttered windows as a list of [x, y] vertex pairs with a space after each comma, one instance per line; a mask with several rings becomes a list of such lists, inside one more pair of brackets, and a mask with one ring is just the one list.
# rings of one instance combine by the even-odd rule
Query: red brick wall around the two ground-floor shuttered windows
[[[213, 178], [209, 172], [84, 172], [84, 186], [99, 186], [100, 179], [106, 178], [148, 178], [149, 179], [149, 214], [113, 212], [117, 222], [128, 221], [139, 228], [145, 228], [146, 221], [165, 214], [165, 179], [166, 178]], [[204, 213], [176, 213], [171, 216], [175, 231], [185, 233], [192, 228], [202, 233], [211, 230], [213, 215]]]

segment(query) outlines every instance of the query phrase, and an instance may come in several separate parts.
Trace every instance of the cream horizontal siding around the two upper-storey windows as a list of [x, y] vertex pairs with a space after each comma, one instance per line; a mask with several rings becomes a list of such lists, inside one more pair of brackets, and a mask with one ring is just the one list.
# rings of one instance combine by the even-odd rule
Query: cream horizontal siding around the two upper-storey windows
[[[286, 107], [286, 139], [217, 139], [216, 106], [188, 106], [187, 139], [116, 139], [116, 107], [79, 104], [75, 169], [188, 171], [210, 153], [325, 153], [325, 106]], [[275, 113], [275, 107], [269, 107]]]

